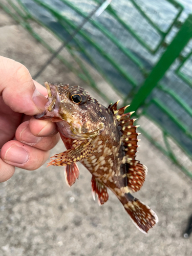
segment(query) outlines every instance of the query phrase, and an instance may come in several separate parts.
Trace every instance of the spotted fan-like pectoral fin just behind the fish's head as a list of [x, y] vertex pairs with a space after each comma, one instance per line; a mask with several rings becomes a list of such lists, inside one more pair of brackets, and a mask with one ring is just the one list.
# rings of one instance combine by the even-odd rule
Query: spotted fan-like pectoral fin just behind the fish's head
[[[87, 158], [94, 153], [94, 147], [89, 142], [89, 140], [84, 140], [80, 144], [74, 146], [70, 150], [62, 152], [60, 154], [56, 154], [51, 157], [51, 162], [48, 163], [50, 165], [66, 165], [80, 161], [83, 158]], [[55, 159], [53, 159], [55, 158]]]

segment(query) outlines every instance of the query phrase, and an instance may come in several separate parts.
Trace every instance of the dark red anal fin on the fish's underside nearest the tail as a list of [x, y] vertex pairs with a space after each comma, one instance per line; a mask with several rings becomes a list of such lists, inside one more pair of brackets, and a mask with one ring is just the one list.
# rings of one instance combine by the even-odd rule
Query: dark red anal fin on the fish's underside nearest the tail
[[98, 204], [102, 205], [109, 199], [108, 190], [105, 185], [92, 176], [91, 179], [92, 195], [95, 200], [95, 195], [98, 197]]

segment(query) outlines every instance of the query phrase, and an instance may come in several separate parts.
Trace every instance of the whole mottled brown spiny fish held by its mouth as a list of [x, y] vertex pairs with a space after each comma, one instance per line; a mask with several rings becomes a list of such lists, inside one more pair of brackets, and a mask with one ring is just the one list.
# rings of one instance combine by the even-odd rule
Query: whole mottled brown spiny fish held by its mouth
[[51, 157], [48, 166], [64, 166], [66, 182], [72, 186], [79, 177], [77, 162], [92, 174], [91, 188], [99, 205], [109, 199], [110, 189], [124, 206], [136, 227], [147, 233], [157, 222], [155, 212], [135, 198], [145, 180], [147, 167], [136, 160], [137, 125], [128, 106], [108, 108], [80, 86], [45, 82], [48, 102], [36, 119], [56, 123], [66, 151]]

